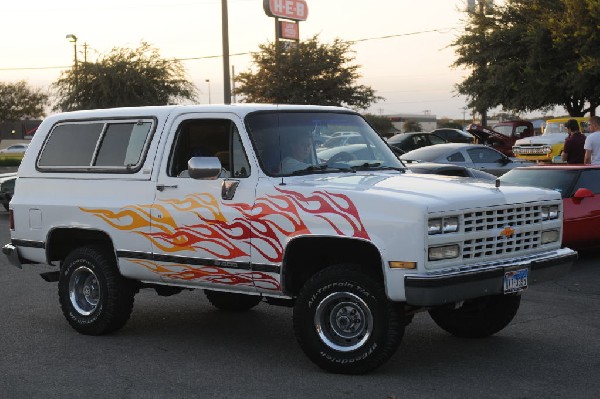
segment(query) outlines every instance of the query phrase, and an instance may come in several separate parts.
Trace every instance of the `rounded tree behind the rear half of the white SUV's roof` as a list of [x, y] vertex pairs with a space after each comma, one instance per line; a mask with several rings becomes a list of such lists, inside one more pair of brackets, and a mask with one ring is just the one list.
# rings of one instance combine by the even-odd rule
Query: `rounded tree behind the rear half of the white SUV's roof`
[[196, 88], [177, 60], [160, 57], [142, 42], [137, 49], [113, 48], [97, 62], [79, 63], [52, 84], [58, 102], [54, 109], [167, 105], [195, 100]]

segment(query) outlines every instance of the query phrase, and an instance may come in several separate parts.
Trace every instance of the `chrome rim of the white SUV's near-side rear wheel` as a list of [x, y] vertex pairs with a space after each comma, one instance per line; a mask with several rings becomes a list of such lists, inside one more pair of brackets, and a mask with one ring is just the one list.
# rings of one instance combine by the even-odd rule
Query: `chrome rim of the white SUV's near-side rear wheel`
[[94, 272], [87, 267], [79, 267], [69, 279], [69, 298], [73, 308], [83, 316], [96, 310], [100, 302], [100, 285]]

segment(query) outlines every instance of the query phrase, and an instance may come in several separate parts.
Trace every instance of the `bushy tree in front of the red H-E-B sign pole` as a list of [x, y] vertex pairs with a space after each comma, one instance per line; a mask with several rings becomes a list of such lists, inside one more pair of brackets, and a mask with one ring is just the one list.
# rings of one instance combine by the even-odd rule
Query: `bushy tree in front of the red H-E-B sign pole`
[[299, 42], [287, 51], [266, 43], [252, 54], [256, 72], [236, 77], [235, 92], [244, 102], [345, 105], [366, 109], [382, 100], [375, 91], [356, 84], [359, 65], [351, 64], [350, 44], [339, 39], [321, 44], [318, 36]]

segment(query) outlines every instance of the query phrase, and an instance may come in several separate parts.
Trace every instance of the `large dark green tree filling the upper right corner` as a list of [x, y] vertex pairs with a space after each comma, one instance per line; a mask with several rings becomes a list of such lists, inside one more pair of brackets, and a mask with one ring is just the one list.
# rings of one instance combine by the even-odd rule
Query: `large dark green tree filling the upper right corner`
[[493, 16], [470, 14], [465, 34], [453, 43], [455, 66], [472, 70], [458, 92], [480, 112], [555, 105], [571, 116], [594, 112], [599, 8], [597, 0], [507, 0]]

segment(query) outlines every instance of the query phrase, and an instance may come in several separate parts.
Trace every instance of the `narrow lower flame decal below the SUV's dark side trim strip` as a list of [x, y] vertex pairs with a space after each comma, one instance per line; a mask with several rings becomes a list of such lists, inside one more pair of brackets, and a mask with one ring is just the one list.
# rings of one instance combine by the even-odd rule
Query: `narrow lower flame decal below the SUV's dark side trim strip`
[[148, 260], [130, 259], [153, 273], [164, 278], [182, 281], [200, 281], [213, 284], [238, 285], [254, 287], [254, 284], [267, 290], [279, 290], [279, 282], [270, 275], [262, 272], [249, 271], [245, 273], [229, 273], [215, 266], [190, 266], [183, 264], [169, 264], [168, 266]]

